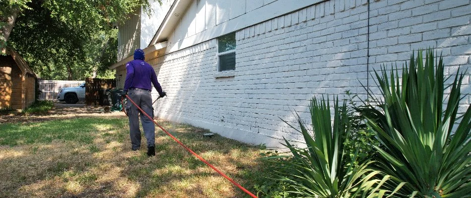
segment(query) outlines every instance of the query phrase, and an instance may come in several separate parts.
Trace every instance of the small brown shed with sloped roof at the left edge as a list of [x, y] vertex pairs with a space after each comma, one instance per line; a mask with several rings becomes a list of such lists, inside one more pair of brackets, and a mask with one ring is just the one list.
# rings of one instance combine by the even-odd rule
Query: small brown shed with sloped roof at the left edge
[[35, 101], [36, 74], [14, 50], [0, 55], [0, 108], [25, 109]]

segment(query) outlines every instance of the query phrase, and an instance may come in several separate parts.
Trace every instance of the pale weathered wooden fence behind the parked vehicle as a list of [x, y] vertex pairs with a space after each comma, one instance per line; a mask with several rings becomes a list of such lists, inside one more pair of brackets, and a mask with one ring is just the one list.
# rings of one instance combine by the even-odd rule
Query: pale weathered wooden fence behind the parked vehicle
[[41, 80], [39, 81], [39, 90], [41, 90], [39, 100], [57, 100], [59, 89], [77, 87], [82, 83], [83, 81]]

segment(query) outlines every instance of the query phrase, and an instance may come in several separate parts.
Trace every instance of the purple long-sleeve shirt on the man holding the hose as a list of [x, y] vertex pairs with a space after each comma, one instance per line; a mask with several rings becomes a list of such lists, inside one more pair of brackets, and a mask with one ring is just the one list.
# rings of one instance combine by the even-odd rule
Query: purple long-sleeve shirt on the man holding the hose
[[154, 68], [145, 62], [144, 60], [136, 59], [129, 61], [126, 64], [126, 81], [124, 81], [124, 90], [128, 91], [131, 88], [140, 88], [146, 90], [152, 90], [152, 84], [154, 88], [163, 95], [162, 87], [159, 81], [157, 81], [157, 75], [155, 74]]

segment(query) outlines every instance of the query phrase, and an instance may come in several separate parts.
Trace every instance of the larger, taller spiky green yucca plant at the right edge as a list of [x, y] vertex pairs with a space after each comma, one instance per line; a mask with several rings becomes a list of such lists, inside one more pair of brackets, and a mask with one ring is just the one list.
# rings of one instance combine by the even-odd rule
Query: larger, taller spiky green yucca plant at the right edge
[[[409, 67], [376, 72], [384, 101], [378, 109], [358, 108], [381, 146], [375, 147], [382, 163], [380, 171], [407, 182], [404, 197], [463, 198], [471, 196], [471, 111], [457, 111], [461, 82], [458, 74], [444, 102], [444, 64], [433, 50], [412, 53]], [[388, 75], [389, 73], [389, 75]], [[370, 93], [371, 94], [371, 93]], [[391, 186], [394, 187], [394, 186]]]

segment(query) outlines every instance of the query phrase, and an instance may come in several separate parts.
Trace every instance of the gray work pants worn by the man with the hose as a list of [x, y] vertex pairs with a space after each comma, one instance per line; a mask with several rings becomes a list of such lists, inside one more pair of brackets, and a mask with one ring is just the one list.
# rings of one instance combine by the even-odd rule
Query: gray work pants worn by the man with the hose
[[[151, 92], [147, 90], [129, 90], [128, 96], [150, 117], [154, 118], [154, 108], [152, 108]], [[131, 138], [132, 149], [141, 147], [141, 131], [139, 129], [139, 114], [141, 115], [142, 129], [147, 139], [147, 147], [155, 146], [155, 125], [131, 102], [127, 101], [126, 110], [129, 116], [129, 136]]]

